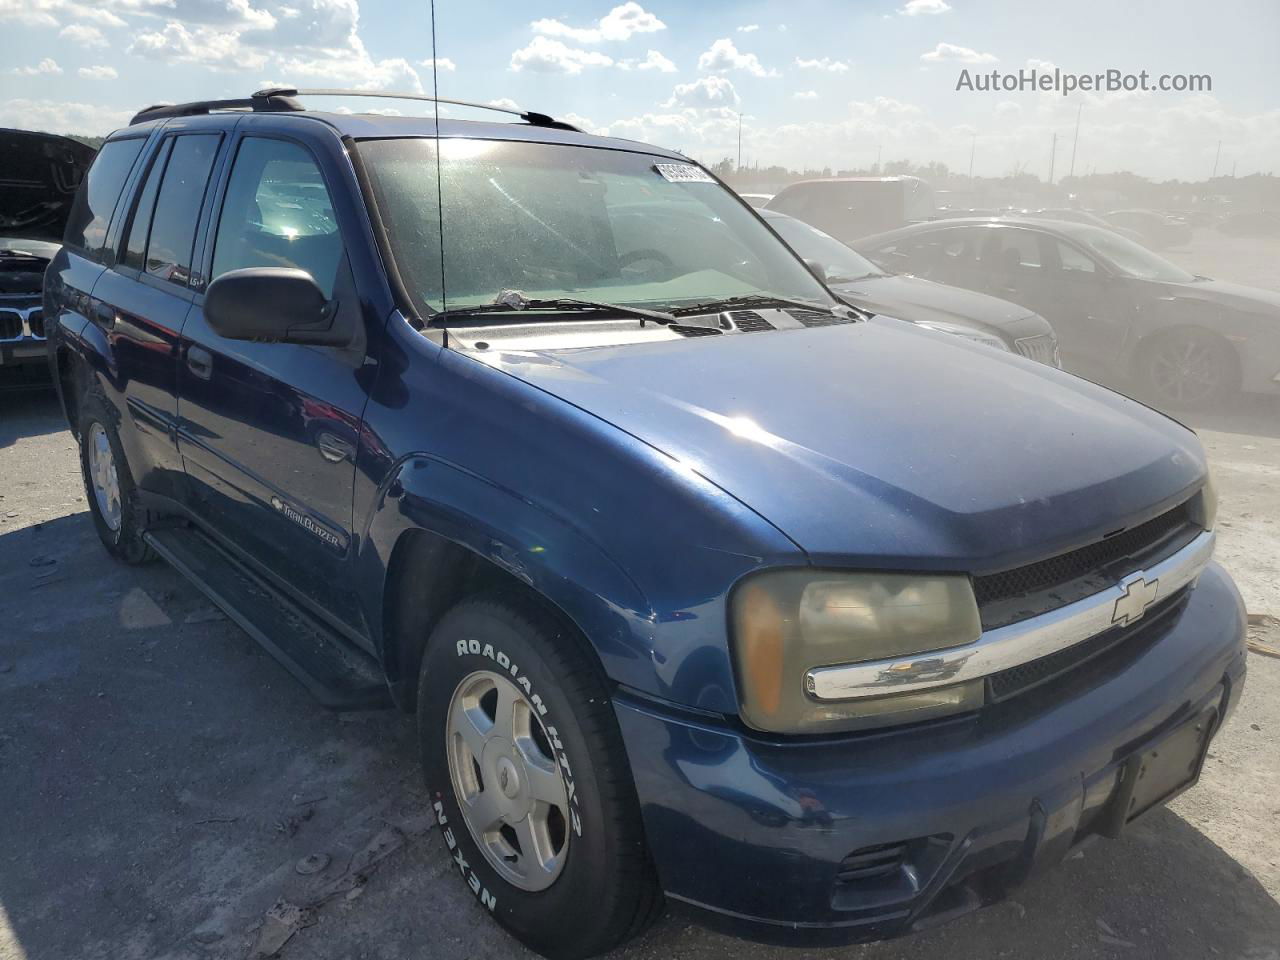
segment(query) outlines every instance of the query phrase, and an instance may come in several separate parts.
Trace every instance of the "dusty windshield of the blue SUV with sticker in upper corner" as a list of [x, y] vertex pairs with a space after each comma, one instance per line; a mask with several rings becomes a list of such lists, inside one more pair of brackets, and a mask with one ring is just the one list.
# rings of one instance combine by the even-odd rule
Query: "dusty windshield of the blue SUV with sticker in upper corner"
[[508, 291], [659, 310], [753, 294], [833, 303], [737, 197], [691, 164], [522, 141], [440, 145], [439, 188], [434, 140], [360, 145], [424, 316]]

